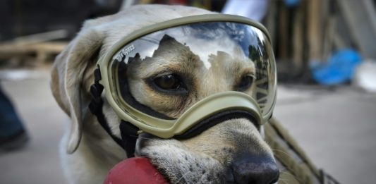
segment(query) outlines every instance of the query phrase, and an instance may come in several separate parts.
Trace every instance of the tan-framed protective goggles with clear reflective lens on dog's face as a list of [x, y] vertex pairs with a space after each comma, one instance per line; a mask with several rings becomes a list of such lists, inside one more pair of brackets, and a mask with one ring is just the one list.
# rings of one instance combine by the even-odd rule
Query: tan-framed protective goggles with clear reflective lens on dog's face
[[[162, 138], [224, 111], [245, 111], [261, 125], [274, 108], [277, 76], [269, 35], [240, 16], [190, 16], [142, 28], [114, 44], [98, 65], [99, 83], [116, 114]], [[150, 102], [145, 89], [169, 98]], [[149, 107], [193, 99], [175, 117]]]

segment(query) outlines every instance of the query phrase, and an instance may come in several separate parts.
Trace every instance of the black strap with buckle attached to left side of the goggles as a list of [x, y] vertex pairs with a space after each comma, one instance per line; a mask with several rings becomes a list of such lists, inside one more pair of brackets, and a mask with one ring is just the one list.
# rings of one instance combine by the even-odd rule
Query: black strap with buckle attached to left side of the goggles
[[92, 101], [89, 104], [89, 109], [97, 116], [97, 120], [102, 128], [106, 130], [106, 132], [111, 136], [111, 138], [126, 151], [127, 157], [135, 157], [135, 144], [138, 138], [138, 128], [135, 125], [132, 125], [129, 122], [121, 121], [119, 128], [121, 133], [121, 139], [116, 137], [109, 128], [109, 124], [104, 117], [102, 107], [103, 107], [103, 100], [101, 94], [103, 92], [104, 87], [99, 84], [99, 80], [102, 79], [100, 74], [99, 68], [95, 69], [94, 71], [94, 84], [90, 87], [90, 93], [92, 94]]

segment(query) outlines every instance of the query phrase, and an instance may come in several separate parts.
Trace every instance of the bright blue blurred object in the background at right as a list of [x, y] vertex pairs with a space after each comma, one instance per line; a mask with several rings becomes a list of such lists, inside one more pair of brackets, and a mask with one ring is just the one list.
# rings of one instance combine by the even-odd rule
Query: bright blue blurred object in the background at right
[[344, 49], [336, 51], [327, 63], [313, 63], [310, 68], [313, 78], [321, 85], [337, 85], [351, 80], [361, 61], [357, 51]]

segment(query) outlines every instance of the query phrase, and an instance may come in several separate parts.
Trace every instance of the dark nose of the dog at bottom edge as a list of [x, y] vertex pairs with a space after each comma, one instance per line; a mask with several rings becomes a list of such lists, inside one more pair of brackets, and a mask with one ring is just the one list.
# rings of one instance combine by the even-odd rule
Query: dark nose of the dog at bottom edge
[[270, 157], [241, 157], [234, 161], [232, 169], [234, 180], [239, 184], [272, 184], [279, 178], [277, 164]]

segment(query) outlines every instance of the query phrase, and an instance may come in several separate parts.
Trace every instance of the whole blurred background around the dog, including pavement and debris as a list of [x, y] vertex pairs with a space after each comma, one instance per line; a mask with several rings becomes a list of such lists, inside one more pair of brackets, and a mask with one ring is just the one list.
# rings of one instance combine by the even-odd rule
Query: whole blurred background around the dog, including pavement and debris
[[376, 13], [372, 0], [1, 0], [0, 183], [66, 183], [68, 116], [49, 89], [54, 57], [83, 21], [134, 4], [246, 16], [272, 37], [274, 116], [341, 183], [375, 183]]

